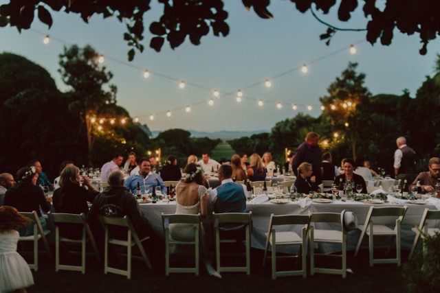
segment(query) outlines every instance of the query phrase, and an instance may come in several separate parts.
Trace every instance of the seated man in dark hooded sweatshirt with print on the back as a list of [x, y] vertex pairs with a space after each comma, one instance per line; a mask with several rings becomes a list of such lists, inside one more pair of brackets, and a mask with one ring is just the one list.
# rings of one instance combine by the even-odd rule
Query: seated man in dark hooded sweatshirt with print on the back
[[[146, 159], [148, 161], [148, 159]], [[148, 163], [150, 163], [148, 161]], [[135, 197], [126, 191], [124, 187], [124, 174], [119, 170], [113, 171], [108, 177], [109, 187], [95, 197], [89, 213], [87, 222], [94, 224], [99, 215], [107, 217], [124, 217], [128, 215], [137, 235], [145, 237], [150, 232], [150, 224], [140, 209]], [[111, 233], [117, 237], [126, 237], [126, 229], [122, 227], [111, 227]]]

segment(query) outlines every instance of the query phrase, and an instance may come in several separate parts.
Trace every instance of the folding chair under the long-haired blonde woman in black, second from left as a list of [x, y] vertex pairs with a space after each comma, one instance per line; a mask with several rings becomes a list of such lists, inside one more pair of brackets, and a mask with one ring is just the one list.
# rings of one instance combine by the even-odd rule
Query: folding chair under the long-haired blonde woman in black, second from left
[[[58, 270], [73, 270], [73, 271], [80, 271], [83, 274], [85, 274], [85, 257], [86, 257], [87, 242], [90, 242], [91, 246], [94, 249], [94, 254], [96, 256], [96, 259], [100, 261], [98, 247], [96, 246], [94, 235], [91, 234], [89, 224], [87, 224], [87, 222], [85, 221], [85, 214], [80, 213], [80, 215], [76, 215], [73, 213], [51, 213], [50, 218], [52, 218], [52, 222], [54, 222], [55, 225], [55, 271], [58, 272]], [[80, 227], [80, 225], [82, 226], [83, 235], [80, 239], [72, 239], [60, 235], [60, 224], [62, 225], [67, 223], [78, 224], [78, 228]], [[67, 230], [67, 227], [61, 228], [61, 230]], [[73, 266], [73, 265], [60, 263], [60, 244], [62, 242], [67, 244], [69, 243], [81, 244], [81, 266]]]

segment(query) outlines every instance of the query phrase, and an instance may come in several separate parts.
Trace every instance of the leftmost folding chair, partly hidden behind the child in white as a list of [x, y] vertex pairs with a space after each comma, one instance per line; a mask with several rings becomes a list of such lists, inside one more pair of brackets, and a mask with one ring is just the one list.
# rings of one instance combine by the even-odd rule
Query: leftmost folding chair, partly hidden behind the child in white
[[43, 244], [49, 254], [50, 259], [52, 259], [52, 253], [50, 251], [49, 242], [47, 242], [46, 236], [50, 233], [49, 230], [44, 230], [43, 226], [41, 226], [39, 215], [36, 211], [32, 212], [20, 212], [21, 215], [24, 215], [27, 218], [30, 218], [32, 222], [34, 222], [33, 228], [34, 232], [29, 236], [20, 236], [19, 242], [34, 242], [34, 263], [29, 263], [29, 268], [38, 271], [39, 270], [39, 240], [43, 240]]

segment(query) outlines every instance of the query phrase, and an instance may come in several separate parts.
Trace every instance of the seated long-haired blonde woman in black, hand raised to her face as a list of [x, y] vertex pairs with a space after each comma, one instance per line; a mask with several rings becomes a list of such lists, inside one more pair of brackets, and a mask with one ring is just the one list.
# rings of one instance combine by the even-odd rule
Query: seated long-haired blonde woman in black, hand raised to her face
[[[87, 176], [83, 176], [84, 185], [80, 186], [80, 169], [76, 166], [67, 166], [61, 171], [60, 188], [54, 191], [53, 203], [56, 213], [87, 213], [89, 205], [93, 202], [99, 191], [90, 183]], [[61, 234], [64, 237], [80, 238], [83, 235], [83, 227], [78, 224], [61, 223]]]

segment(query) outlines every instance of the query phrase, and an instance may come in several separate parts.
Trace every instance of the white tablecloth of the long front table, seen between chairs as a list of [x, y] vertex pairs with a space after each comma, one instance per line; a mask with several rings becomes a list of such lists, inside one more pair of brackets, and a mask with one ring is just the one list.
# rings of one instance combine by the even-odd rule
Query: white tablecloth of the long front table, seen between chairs
[[[364, 224], [366, 220], [366, 215], [372, 204], [364, 202], [342, 202], [336, 200], [329, 203], [311, 202], [311, 204], [300, 207], [298, 202], [288, 201], [285, 204], [276, 204], [272, 202], [263, 203], [253, 203], [248, 201], [247, 209], [252, 211], [252, 247], [254, 248], [265, 248], [265, 233], [267, 233], [270, 223], [270, 215], [308, 215], [309, 213], [321, 213], [321, 212], [333, 212], [340, 213], [343, 210], [352, 211], [358, 218], [358, 224]], [[377, 207], [403, 207], [406, 205], [408, 210], [406, 212], [405, 218], [401, 223], [401, 248], [410, 249], [412, 242], [415, 237], [415, 233], [411, 230], [414, 226], [418, 226], [423, 215], [423, 211], [426, 208], [437, 210], [437, 208], [432, 204], [375, 204]], [[162, 202], [159, 201], [155, 204], [153, 203], [140, 203], [142, 211], [144, 211], [147, 218], [151, 221], [153, 230], [158, 235], [164, 235], [162, 228], [162, 213], [175, 213], [176, 204], [175, 202]], [[380, 224], [389, 224], [391, 227], [395, 225], [395, 219], [382, 219]], [[325, 224], [318, 223], [316, 228], [320, 229], [340, 229], [340, 225], [336, 224]], [[300, 227], [282, 227], [279, 231], [295, 231], [300, 233]], [[360, 237], [359, 230], [349, 231], [349, 237], [347, 242], [347, 249], [354, 250], [358, 239]], [[340, 251], [340, 245], [338, 244], [320, 244], [319, 246], [322, 253], [332, 253], [335, 251]], [[296, 248], [286, 248], [285, 252], [294, 253]]]

